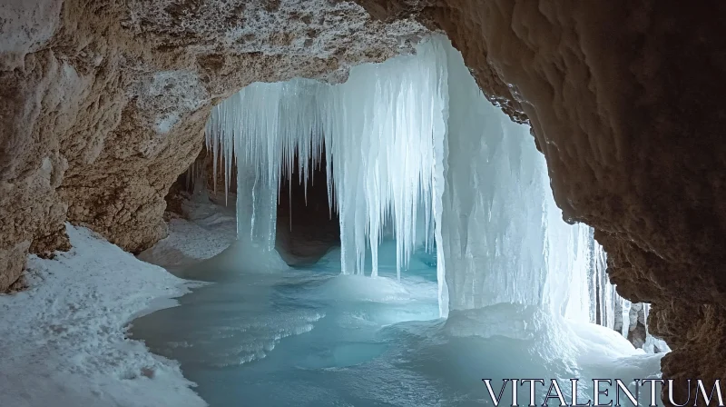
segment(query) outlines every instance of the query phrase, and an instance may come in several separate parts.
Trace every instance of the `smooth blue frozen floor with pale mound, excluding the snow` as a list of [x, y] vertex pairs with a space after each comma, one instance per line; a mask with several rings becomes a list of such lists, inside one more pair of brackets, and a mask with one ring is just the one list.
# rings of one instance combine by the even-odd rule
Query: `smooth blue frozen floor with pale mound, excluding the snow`
[[260, 258], [250, 266], [238, 250], [187, 269], [214, 284], [132, 327], [153, 352], [180, 361], [211, 406], [468, 406], [488, 403], [483, 378], [659, 374], [660, 355], [535, 308], [499, 304], [438, 319], [427, 253], [397, 282], [392, 247], [377, 279], [339, 275], [338, 252], [284, 270]]

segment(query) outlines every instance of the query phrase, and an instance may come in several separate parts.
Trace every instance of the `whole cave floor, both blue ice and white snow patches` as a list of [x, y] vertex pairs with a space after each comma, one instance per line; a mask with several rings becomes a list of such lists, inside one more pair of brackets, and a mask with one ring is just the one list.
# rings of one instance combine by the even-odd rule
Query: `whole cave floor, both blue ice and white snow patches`
[[[147, 253], [213, 282], [175, 308], [162, 309], [190, 283], [86, 229], [68, 226], [71, 252], [31, 256], [30, 288], [0, 295], [0, 405], [466, 406], [488, 402], [482, 378], [659, 373], [660, 355], [533, 308], [438, 319], [436, 259], [426, 253], [400, 282], [390, 247], [378, 279], [339, 275], [336, 252], [288, 269], [240, 244], [189, 266], [229, 243], [233, 217], [207, 206]], [[135, 317], [130, 334], [159, 355], [127, 338]]]

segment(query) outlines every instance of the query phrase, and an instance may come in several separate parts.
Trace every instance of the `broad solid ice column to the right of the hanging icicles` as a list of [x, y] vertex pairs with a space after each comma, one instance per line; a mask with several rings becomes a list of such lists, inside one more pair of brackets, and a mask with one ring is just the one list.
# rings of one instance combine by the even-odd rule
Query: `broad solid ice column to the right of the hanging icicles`
[[590, 228], [564, 223], [529, 126], [489, 103], [447, 47], [443, 257], [452, 310], [495, 303], [594, 315]]

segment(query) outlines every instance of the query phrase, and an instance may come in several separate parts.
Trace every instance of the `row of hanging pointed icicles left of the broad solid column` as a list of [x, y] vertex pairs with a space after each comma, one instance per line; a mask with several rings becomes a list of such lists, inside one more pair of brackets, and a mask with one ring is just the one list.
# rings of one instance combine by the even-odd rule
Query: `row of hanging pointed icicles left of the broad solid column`
[[[437, 234], [434, 172], [442, 171], [446, 132], [442, 46], [430, 41], [417, 55], [357, 66], [345, 84], [304, 79], [250, 84], [217, 106], [207, 143], [215, 160], [221, 152], [227, 184], [236, 158], [238, 232], [273, 248], [280, 170], [292, 174], [297, 153], [300, 181], [307, 184], [308, 163], [319, 163], [324, 145], [330, 203], [340, 218], [343, 273], [363, 273], [370, 250], [377, 275], [378, 243], [388, 221], [399, 273], [417, 233], [430, 234], [424, 238], [430, 246]], [[437, 188], [440, 195], [442, 185]], [[423, 230], [417, 230], [419, 210], [427, 219]]]

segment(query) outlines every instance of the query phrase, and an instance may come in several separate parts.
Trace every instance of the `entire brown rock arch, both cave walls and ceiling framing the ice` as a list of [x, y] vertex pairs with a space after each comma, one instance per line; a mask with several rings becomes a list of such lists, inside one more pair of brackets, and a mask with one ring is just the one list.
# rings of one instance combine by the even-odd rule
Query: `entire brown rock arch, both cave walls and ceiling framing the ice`
[[664, 376], [726, 376], [726, 4], [358, 3], [375, 18], [334, 0], [0, 5], [0, 288], [28, 251], [67, 247], [66, 220], [130, 251], [162, 237], [211, 104], [257, 80], [342, 80], [425, 25], [530, 121], [565, 218], [594, 226], [624, 297], [652, 303]]

